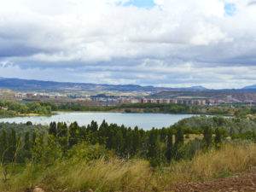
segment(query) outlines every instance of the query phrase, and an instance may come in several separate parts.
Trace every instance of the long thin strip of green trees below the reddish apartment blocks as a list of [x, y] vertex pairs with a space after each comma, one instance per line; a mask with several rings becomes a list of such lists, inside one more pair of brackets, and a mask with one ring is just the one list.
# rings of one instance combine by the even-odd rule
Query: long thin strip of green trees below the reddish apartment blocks
[[64, 111], [110, 111], [124, 110], [125, 113], [186, 113], [208, 115], [235, 115], [245, 118], [247, 114], [255, 114], [256, 108], [217, 108], [199, 105], [186, 105], [175, 103], [132, 103], [113, 107], [87, 107], [76, 103], [64, 103], [56, 106]]

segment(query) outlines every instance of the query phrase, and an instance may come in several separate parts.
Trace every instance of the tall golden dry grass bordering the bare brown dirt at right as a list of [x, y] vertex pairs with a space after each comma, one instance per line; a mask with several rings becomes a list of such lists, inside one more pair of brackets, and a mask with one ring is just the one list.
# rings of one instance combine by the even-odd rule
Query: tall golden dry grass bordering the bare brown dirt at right
[[209, 180], [222, 173], [234, 174], [247, 172], [256, 166], [256, 145], [224, 145], [219, 150], [212, 149], [207, 153], [196, 154], [192, 160], [174, 163], [160, 172], [155, 179], [161, 187], [167, 184], [189, 183]]

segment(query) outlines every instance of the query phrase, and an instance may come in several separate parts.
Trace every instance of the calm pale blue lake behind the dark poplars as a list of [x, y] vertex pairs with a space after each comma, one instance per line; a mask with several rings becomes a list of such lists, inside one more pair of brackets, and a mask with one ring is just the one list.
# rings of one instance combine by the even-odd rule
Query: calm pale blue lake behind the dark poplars
[[134, 128], [136, 125], [144, 130], [152, 127], [161, 128], [173, 125], [180, 119], [189, 118], [193, 114], [161, 114], [161, 113], [58, 113], [51, 117], [16, 117], [0, 119], [0, 122], [26, 123], [32, 121], [33, 124], [49, 124], [52, 121], [65, 121], [68, 124], [77, 121], [79, 125], [88, 125], [91, 120], [101, 124], [105, 119], [108, 124], [116, 123], [118, 125]]

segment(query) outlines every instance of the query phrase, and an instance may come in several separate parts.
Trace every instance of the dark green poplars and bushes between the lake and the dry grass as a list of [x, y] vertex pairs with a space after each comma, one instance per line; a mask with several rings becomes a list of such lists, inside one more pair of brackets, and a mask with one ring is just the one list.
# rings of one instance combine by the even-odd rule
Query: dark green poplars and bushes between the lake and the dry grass
[[[33, 125], [28, 122], [22, 126]], [[179, 127], [143, 131], [138, 127], [131, 129], [124, 125], [108, 125], [105, 121], [101, 125], [92, 121], [87, 126], [79, 126], [76, 122], [69, 126], [52, 122], [48, 133], [36, 130], [17, 133], [16, 130], [1, 131], [2, 162], [34, 160], [50, 164], [55, 160], [72, 158], [93, 160], [113, 153], [123, 159], [142, 158], [152, 166], [160, 166], [168, 165], [172, 160], [191, 159], [196, 151], [219, 148], [229, 135], [223, 129], [213, 130], [208, 125], [201, 130]], [[203, 138], [195, 137], [185, 142], [190, 134], [203, 135]], [[247, 132], [246, 136], [234, 135], [233, 138], [256, 140], [253, 131], [251, 134]]]

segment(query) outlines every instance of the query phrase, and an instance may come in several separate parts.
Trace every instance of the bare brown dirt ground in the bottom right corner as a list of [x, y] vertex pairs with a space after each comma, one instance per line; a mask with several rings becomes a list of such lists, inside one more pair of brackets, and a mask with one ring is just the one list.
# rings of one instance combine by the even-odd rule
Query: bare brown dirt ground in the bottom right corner
[[220, 178], [201, 183], [177, 184], [166, 191], [177, 192], [215, 192], [215, 191], [252, 191], [256, 192], [256, 167], [251, 172], [239, 174], [233, 177]]

